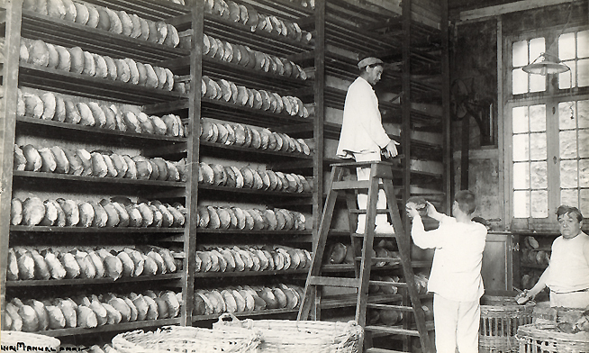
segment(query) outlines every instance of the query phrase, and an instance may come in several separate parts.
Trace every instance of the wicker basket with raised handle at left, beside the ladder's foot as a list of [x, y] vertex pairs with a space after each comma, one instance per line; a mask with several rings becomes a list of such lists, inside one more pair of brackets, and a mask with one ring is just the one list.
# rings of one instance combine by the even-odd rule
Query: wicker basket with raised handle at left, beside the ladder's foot
[[262, 339], [261, 353], [358, 353], [362, 327], [356, 321], [240, 321], [232, 314], [223, 314], [213, 323], [213, 330], [246, 328], [257, 330]]

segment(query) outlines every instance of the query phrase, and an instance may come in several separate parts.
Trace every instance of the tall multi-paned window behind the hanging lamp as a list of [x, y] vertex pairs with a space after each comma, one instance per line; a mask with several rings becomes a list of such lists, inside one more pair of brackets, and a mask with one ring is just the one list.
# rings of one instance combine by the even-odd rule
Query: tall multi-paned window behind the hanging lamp
[[[507, 41], [506, 196], [515, 229], [554, 228], [559, 204], [589, 215], [589, 30], [544, 34]], [[522, 70], [546, 50], [571, 70]]]

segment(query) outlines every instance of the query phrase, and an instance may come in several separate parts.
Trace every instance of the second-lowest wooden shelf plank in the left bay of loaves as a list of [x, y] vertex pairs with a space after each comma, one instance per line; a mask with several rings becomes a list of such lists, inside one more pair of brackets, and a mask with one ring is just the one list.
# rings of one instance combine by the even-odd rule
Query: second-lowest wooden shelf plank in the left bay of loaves
[[117, 280], [113, 278], [74, 278], [74, 279], [48, 279], [48, 280], [23, 280], [23, 281], [6, 281], [7, 287], [31, 287], [31, 286], [54, 286], [54, 285], [112, 285], [113, 283], [135, 283], [151, 281], [167, 281], [172, 279], [181, 279], [181, 273], [165, 274], [158, 276], [139, 276], [139, 277], [121, 277]]

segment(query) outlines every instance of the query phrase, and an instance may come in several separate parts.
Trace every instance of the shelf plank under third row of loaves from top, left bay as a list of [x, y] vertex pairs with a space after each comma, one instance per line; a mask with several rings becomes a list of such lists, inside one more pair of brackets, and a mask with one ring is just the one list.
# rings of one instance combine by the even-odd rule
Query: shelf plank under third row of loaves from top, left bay
[[[77, 125], [69, 122], [55, 122], [52, 120], [42, 120], [36, 119], [28, 116], [18, 116], [16, 117], [16, 122], [23, 125], [30, 125], [31, 131], [41, 131], [43, 129], [39, 129], [40, 126], [42, 127], [50, 127], [51, 129], [60, 129], [63, 130], [64, 133], [71, 133], [71, 131], [83, 131], [84, 133], [91, 134], [91, 135], [102, 135], [102, 136], [110, 136], [113, 140], [121, 140], [124, 138], [125, 142], [129, 140], [149, 140], [150, 143], [161, 141], [164, 142], [182, 142], [186, 143], [186, 137], [176, 137], [176, 136], [165, 136], [165, 135], [155, 135], [155, 134], [148, 134], [148, 133], [137, 133], [131, 131], [117, 131], [117, 130], [110, 130], [110, 129], [102, 129], [95, 126], [85, 126], [85, 125]], [[17, 126], [19, 127], [19, 126]]]

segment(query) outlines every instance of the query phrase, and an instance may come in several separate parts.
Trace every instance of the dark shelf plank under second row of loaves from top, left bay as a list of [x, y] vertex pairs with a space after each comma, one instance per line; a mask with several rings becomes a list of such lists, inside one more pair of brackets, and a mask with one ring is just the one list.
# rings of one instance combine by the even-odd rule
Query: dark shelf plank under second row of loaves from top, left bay
[[21, 63], [19, 82], [22, 86], [123, 104], [154, 104], [187, 98], [187, 95], [174, 91], [137, 86], [108, 78], [91, 77], [25, 63]]

